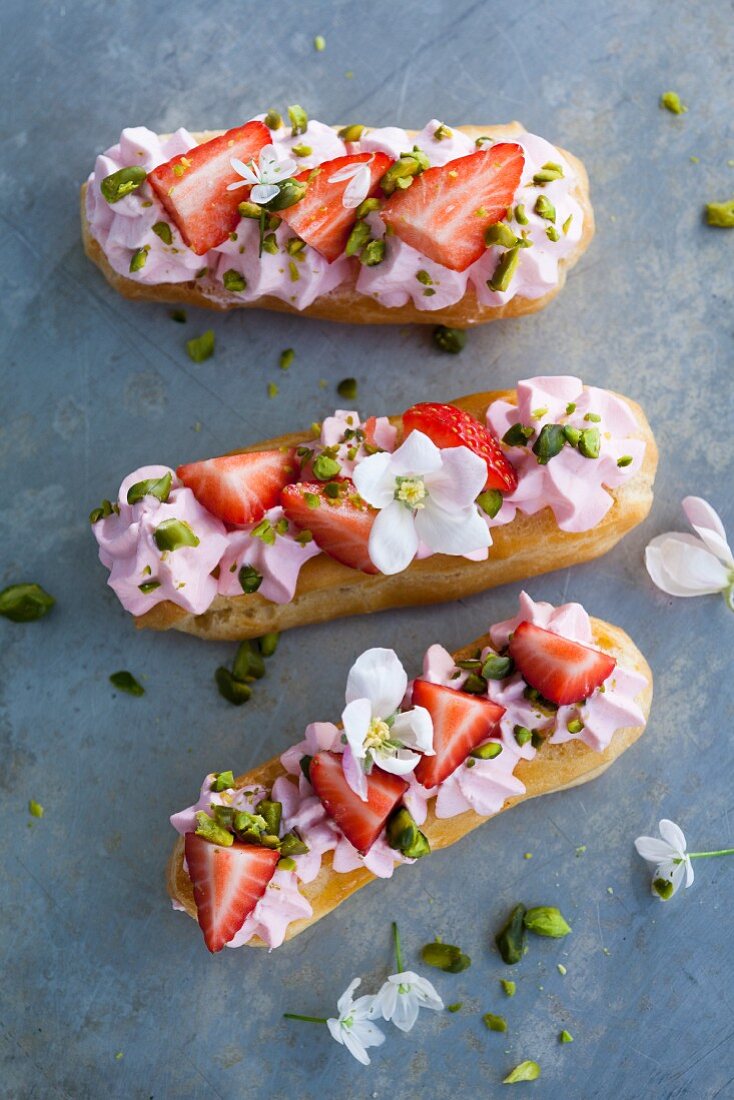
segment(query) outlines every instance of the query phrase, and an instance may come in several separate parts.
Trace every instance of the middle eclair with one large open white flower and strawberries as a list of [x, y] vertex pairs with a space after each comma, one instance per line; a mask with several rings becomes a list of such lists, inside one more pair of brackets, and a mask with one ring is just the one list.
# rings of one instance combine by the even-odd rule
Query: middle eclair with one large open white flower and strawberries
[[90, 519], [138, 626], [235, 640], [589, 561], [645, 518], [656, 465], [635, 402], [538, 377], [143, 466]]

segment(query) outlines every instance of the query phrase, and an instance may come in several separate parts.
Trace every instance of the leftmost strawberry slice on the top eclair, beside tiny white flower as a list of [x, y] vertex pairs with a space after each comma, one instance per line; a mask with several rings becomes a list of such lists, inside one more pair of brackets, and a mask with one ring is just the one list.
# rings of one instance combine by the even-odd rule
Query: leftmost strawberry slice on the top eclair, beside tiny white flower
[[241, 179], [230, 160], [235, 156], [245, 164], [258, 160], [261, 148], [270, 142], [266, 125], [248, 122], [196, 145], [183, 156], [174, 156], [149, 174], [151, 187], [197, 256], [226, 241], [240, 220], [238, 204], [249, 191], [227, 190], [228, 184]]

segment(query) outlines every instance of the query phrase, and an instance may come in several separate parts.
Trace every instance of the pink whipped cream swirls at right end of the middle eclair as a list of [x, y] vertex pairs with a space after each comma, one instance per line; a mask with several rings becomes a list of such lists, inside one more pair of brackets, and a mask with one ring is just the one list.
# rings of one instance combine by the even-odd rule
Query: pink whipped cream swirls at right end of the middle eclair
[[[572, 411], [567, 411], [570, 406]], [[537, 435], [528, 447], [511, 448], [507, 457], [517, 471], [517, 488], [504, 497], [491, 527], [511, 522], [516, 512], [533, 516], [550, 507], [561, 530], [591, 530], [614, 503], [610, 490], [634, 476], [645, 457], [645, 441], [627, 403], [606, 389], [584, 387], [572, 375], [518, 382], [517, 405], [494, 402], [486, 411], [486, 424], [500, 439], [515, 424], [532, 427], [537, 433], [546, 424], [598, 428], [601, 439], [598, 459], [587, 459], [566, 446], [546, 465], [540, 465], [532, 451]], [[620, 459], [626, 464], [617, 465]]]

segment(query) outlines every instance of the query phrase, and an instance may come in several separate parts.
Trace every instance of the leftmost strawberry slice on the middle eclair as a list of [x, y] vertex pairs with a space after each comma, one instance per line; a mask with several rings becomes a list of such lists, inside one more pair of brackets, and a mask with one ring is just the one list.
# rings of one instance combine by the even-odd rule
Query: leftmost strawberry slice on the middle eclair
[[250, 451], [189, 462], [176, 474], [213, 516], [226, 524], [256, 524], [296, 476], [293, 451]]

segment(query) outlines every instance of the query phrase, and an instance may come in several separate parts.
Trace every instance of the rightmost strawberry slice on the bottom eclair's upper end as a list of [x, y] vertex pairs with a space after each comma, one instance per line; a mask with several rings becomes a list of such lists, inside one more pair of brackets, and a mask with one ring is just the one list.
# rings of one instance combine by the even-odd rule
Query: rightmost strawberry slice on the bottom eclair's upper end
[[533, 623], [521, 623], [515, 629], [510, 656], [530, 688], [559, 706], [587, 698], [616, 667], [607, 653]]

